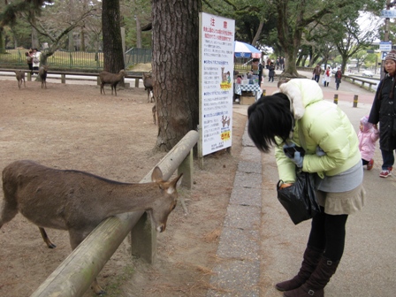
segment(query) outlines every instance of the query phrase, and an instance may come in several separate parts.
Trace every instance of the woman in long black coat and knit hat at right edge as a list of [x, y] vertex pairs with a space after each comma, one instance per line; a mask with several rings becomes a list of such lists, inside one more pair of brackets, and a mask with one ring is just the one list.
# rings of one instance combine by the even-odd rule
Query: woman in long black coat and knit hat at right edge
[[396, 100], [396, 50], [391, 50], [385, 57], [385, 78], [381, 80], [374, 98], [369, 123], [379, 122], [379, 148], [381, 149], [383, 164], [379, 177], [386, 179], [392, 175], [394, 164], [393, 150], [396, 148], [396, 114], [394, 102]]

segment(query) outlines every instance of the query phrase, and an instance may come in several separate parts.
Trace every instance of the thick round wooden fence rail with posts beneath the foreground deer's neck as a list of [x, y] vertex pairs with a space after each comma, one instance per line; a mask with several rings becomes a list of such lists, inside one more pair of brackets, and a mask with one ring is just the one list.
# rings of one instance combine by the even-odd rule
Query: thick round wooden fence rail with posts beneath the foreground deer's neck
[[[157, 164], [164, 179], [170, 179], [174, 171], [183, 172], [183, 186], [192, 185], [193, 148], [198, 141], [196, 131], [188, 132]], [[141, 183], [151, 181], [151, 172]], [[131, 232], [132, 229], [132, 232]], [[103, 266], [117, 250], [126, 235], [131, 232], [132, 254], [141, 256], [148, 263], [156, 258], [156, 230], [144, 211], [134, 211], [108, 217], [98, 225], [80, 246], [72, 251], [54, 270], [31, 297], [77, 297], [84, 294]]]

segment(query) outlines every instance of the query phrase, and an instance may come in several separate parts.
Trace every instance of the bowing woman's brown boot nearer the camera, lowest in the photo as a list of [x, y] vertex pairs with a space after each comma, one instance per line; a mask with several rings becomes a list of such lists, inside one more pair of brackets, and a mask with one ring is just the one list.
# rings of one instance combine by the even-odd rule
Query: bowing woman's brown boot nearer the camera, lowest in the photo
[[324, 287], [338, 266], [339, 261], [331, 261], [323, 256], [307, 282], [295, 290], [285, 292], [284, 297], [324, 297]]

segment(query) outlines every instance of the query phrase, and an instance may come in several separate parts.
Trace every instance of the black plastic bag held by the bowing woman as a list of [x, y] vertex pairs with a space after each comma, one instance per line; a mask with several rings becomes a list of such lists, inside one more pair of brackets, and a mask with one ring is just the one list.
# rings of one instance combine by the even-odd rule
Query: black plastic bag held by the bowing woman
[[277, 184], [278, 201], [286, 209], [294, 225], [308, 220], [320, 212], [312, 173], [298, 171], [292, 186], [280, 188], [282, 184], [283, 181], [279, 180]]

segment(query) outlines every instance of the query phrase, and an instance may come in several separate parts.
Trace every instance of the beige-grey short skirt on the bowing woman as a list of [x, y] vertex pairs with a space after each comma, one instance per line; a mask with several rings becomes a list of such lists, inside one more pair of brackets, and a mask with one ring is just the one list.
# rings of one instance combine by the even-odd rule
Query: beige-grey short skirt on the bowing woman
[[340, 193], [316, 191], [317, 202], [328, 215], [352, 215], [364, 206], [366, 191], [362, 184], [353, 190]]

